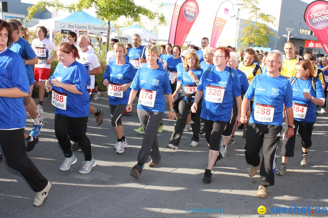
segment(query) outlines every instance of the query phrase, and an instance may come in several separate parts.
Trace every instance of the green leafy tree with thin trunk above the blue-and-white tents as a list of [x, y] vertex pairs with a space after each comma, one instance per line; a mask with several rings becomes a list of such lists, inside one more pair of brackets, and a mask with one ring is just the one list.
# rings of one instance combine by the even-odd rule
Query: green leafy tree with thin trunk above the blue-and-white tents
[[[154, 2], [154, 1], [152, 1]], [[110, 24], [117, 22], [120, 17], [130, 18], [135, 22], [140, 22], [142, 16], [146, 16], [149, 20], [158, 20], [158, 25], [165, 25], [166, 20], [164, 14], [159, 14], [142, 6], [136, 5], [132, 0], [79, 0], [77, 3], [65, 5], [58, 0], [38, 1], [35, 5], [28, 8], [28, 16], [26, 21], [33, 18], [37, 11], [44, 11], [46, 7], [53, 7], [55, 10], [68, 10], [69, 12], [82, 11], [83, 9], [94, 8], [96, 17], [102, 21], [108, 21], [106, 54], [109, 47], [109, 31]]]

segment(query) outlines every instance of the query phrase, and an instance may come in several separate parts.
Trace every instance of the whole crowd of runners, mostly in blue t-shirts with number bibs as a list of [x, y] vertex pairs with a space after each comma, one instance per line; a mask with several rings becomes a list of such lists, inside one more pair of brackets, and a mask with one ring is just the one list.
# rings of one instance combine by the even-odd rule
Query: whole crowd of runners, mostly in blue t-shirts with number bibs
[[[30, 44], [25, 40], [28, 31], [19, 20], [0, 20], [0, 144], [8, 165], [20, 172], [36, 192], [34, 206], [42, 205], [51, 189], [51, 182], [27, 155], [44, 127], [45, 92], [51, 95], [55, 109], [53, 128], [64, 154], [61, 171], [77, 162], [75, 150], [84, 153], [79, 173], [87, 174], [96, 165], [86, 130], [90, 113], [96, 117], [97, 126], [103, 121], [104, 111], [90, 105], [93, 91], [94, 100], [99, 98], [98, 85], [108, 90], [116, 154], [124, 153], [128, 146], [121, 118], [133, 113], [132, 103], [137, 98], [140, 125], [136, 124], [134, 131], [143, 134], [143, 140], [130, 173], [135, 178], [145, 164], [155, 167], [161, 162], [156, 135], [162, 132], [165, 110], [169, 119], [176, 119], [167, 148], [178, 150], [183, 132], [190, 128], [191, 147], [198, 145], [200, 137], [206, 139], [209, 153], [204, 183], [211, 183], [213, 167], [226, 157], [227, 146], [235, 143], [236, 127], [243, 129], [246, 139], [249, 176], [255, 176], [260, 168], [258, 197], [267, 197], [267, 187], [274, 185], [275, 174], [287, 172], [297, 135], [302, 147], [302, 153], [297, 154], [300, 164], [309, 165], [317, 109], [321, 107], [320, 113], [326, 113], [326, 58], [317, 59], [308, 51], [300, 57], [292, 41], [285, 43], [284, 54], [253, 48], [237, 53], [231, 46], [209, 47], [206, 37], [201, 39], [201, 48], [188, 44], [183, 50], [170, 43], [160, 49], [154, 43], [142, 46], [140, 36], [134, 34], [132, 44], [111, 40], [106, 70], [101, 72], [89, 36], [68, 32], [65, 42], [55, 46], [47, 33], [46, 27], [39, 26], [37, 38]], [[55, 58], [59, 63], [49, 78]], [[97, 84], [95, 75], [102, 73], [103, 84]], [[39, 90], [37, 104], [31, 98], [34, 85]], [[165, 108], [166, 101], [169, 108]], [[33, 120], [29, 134], [24, 131], [26, 112]], [[281, 137], [282, 160], [276, 166]]]

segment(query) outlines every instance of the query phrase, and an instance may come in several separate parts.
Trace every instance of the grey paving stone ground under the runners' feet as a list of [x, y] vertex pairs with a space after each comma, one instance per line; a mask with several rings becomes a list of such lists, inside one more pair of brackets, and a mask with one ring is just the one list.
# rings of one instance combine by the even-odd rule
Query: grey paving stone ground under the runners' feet
[[[320, 209], [328, 206], [328, 114], [318, 115], [312, 135], [313, 145], [309, 149], [309, 166], [300, 166], [301, 148], [297, 137], [295, 157], [289, 159], [287, 174], [275, 176], [276, 184], [268, 187], [268, 197], [261, 199], [256, 197], [259, 176], [248, 176], [250, 165], [245, 161], [245, 139], [241, 137], [241, 130], [236, 131], [236, 143], [228, 146], [226, 158], [213, 168], [212, 183], [205, 184], [202, 182], [208, 160], [205, 139], [201, 136], [198, 146], [190, 147], [190, 130], [183, 133], [179, 150], [166, 148], [175, 123], [175, 120], [168, 119], [166, 112], [163, 132], [157, 134], [162, 161], [154, 168], [145, 166], [136, 179], [130, 176], [130, 171], [137, 162], [143, 137], [133, 131], [139, 125], [136, 105], [133, 114], [122, 118], [128, 146], [122, 155], [117, 155], [113, 149], [116, 137], [106, 93], [102, 93], [99, 100], [92, 100], [91, 104], [105, 112], [100, 126], [95, 125], [93, 114], [88, 121], [87, 135], [97, 165], [89, 174], [79, 174], [84, 156], [76, 151], [77, 163], [68, 171], [59, 170], [64, 156], [53, 130], [54, 107], [45, 100], [45, 126], [38, 136], [39, 143], [28, 155], [52, 182], [48, 199], [44, 205], [34, 207], [33, 191], [19, 173], [8, 167], [4, 158], [0, 162], [0, 217], [259, 217], [257, 208], [261, 205], [267, 210], [262, 217], [328, 217], [325, 213], [315, 212], [319, 205]], [[30, 133], [32, 125], [28, 118], [26, 133]], [[278, 155], [280, 149], [281, 140]], [[281, 157], [277, 157], [277, 168], [280, 162]], [[294, 211], [294, 205], [299, 209], [309, 206], [310, 213], [271, 211], [277, 207], [293, 207]], [[192, 212], [198, 208], [214, 209], [214, 212]]]

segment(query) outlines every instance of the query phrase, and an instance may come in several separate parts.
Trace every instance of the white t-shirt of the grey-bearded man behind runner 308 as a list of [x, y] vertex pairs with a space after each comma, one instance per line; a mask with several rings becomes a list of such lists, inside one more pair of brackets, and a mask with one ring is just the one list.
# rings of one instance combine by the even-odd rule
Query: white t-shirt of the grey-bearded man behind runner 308
[[[76, 59], [77, 62], [83, 64], [88, 71], [93, 70], [100, 66], [98, 57], [90, 50], [86, 52], [79, 51], [80, 59]], [[87, 89], [94, 89], [94, 75], [90, 75], [91, 84], [87, 86]]]

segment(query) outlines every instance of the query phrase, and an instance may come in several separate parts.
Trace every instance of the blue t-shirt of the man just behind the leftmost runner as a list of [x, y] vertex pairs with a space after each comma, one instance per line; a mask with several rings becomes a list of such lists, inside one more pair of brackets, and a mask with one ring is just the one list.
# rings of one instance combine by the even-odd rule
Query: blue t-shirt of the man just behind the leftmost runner
[[[33, 51], [31, 44], [21, 37], [17, 42], [14, 42], [11, 45], [10, 50], [19, 54], [24, 60], [30, 60], [36, 57], [36, 54]], [[33, 65], [25, 65], [25, 68], [31, 86], [34, 84]]]

